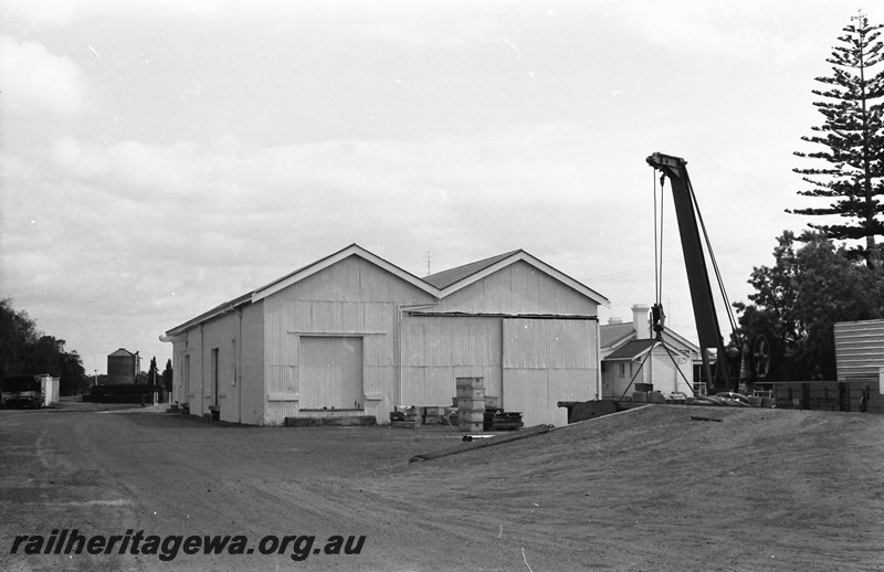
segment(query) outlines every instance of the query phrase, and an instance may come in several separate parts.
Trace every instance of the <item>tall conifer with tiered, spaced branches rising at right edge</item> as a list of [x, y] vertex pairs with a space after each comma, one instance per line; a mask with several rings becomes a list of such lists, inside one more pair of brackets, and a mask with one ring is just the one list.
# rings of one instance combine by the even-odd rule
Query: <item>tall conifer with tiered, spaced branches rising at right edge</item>
[[884, 236], [884, 71], [873, 67], [884, 61], [882, 42], [884, 28], [871, 25], [860, 15], [851, 19], [838, 38], [832, 55], [832, 75], [817, 77], [825, 89], [813, 89], [823, 100], [813, 105], [825, 117], [822, 126], [813, 127], [817, 135], [802, 137], [811, 144], [825, 147], [817, 152], [796, 151], [802, 158], [821, 159], [825, 168], [796, 168], [794, 172], [811, 184], [798, 194], [831, 201], [829, 206], [787, 210], [811, 216], [839, 215], [846, 219], [841, 224], [809, 224], [833, 240], [865, 240], [865, 248], [856, 246], [852, 254], [865, 258], [867, 266], [875, 264], [875, 236]]

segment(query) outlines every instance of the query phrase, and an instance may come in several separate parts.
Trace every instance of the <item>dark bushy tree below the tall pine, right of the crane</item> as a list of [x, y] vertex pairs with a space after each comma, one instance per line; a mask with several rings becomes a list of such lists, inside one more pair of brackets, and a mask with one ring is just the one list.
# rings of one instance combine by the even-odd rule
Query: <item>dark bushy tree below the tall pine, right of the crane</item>
[[770, 341], [770, 379], [809, 380], [815, 367], [835, 379], [833, 325], [884, 317], [884, 269], [856, 264], [822, 232], [777, 241], [776, 264], [753, 269], [751, 304], [734, 305], [740, 328]]

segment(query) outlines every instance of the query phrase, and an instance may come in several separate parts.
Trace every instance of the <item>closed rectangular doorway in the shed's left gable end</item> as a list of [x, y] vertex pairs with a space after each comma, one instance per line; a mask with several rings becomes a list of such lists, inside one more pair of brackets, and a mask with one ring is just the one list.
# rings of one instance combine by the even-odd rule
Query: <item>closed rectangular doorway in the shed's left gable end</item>
[[301, 407], [362, 407], [362, 338], [302, 336], [298, 356]]

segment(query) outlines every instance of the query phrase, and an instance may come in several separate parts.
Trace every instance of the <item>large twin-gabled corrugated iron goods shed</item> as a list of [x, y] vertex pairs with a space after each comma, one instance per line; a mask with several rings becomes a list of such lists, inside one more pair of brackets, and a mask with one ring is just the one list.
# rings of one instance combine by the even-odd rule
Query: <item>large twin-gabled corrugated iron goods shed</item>
[[193, 414], [286, 417], [446, 406], [459, 377], [526, 425], [599, 396], [608, 300], [524, 251], [419, 278], [354, 244], [177, 326], [173, 400]]

